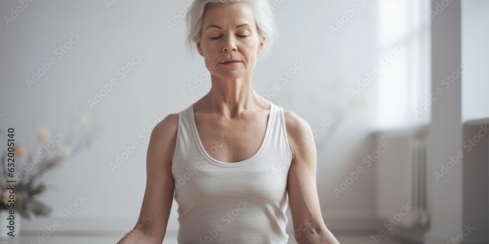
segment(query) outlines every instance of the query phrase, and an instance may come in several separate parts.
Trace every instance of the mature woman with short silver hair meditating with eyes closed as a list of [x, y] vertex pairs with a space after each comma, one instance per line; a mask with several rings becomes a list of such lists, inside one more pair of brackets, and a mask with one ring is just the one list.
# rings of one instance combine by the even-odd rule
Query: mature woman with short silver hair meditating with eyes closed
[[286, 244], [288, 203], [291, 238], [338, 244], [321, 216], [311, 127], [251, 86], [275, 29], [267, 0], [195, 0], [187, 25], [212, 87], [153, 130], [140, 218], [119, 244], [161, 244], [174, 193], [179, 244]]

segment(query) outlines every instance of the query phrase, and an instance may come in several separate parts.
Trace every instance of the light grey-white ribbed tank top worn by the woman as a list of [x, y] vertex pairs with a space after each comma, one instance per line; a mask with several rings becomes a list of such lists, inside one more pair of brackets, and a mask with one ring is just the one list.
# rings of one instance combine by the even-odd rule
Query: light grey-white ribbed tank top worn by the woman
[[178, 244], [288, 243], [292, 155], [283, 108], [270, 102], [265, 139], [251, 158], [237, 163], [215, 160], [204, 150], [193, 104], [178, 114], [172, 162]]

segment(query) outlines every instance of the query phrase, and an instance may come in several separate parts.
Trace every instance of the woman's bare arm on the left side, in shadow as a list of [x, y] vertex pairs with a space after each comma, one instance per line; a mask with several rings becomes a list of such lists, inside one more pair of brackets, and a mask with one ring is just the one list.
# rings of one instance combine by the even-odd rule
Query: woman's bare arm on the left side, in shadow
[[170, 114], [151, 132], [146, 155], [146, 190], [134, 228], [117, 244], [161, 244], [173, 203], [172, 157], [178, 114]]

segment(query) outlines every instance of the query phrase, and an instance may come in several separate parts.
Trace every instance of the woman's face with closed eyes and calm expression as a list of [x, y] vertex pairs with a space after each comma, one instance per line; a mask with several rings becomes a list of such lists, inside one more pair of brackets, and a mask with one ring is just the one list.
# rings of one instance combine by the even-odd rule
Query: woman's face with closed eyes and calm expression
[[[209, 7], [201, 33], [196, 44], [205, 66], [224, 80], [250, 74], [265, 41], [258, 35], [251, 7], [243, 3]], [[238, 62], [225, 63], [229, 60]]]

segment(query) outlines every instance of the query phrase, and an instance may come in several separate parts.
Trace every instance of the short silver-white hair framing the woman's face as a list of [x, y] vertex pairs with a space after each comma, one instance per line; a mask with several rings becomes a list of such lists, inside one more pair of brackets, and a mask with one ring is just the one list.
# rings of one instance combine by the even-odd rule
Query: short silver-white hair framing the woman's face
[[196, 39], [202, 34], [202, 25], [204, 22], [204, 13], [209, 6], [225, 5], [233, 3], [247, 3], [251, 6], [256, 22], [256, 28], [260, 37], [265, 37], [265, 42], [261, 55], [266, 56], [268, 50], [273, 45], [277, 36], [275, 20], [273, 18], [272, 7], [267, 0], [195, 0], [189, 7], [187, 16], [187, 40], [185, 41], [194, 55]]

